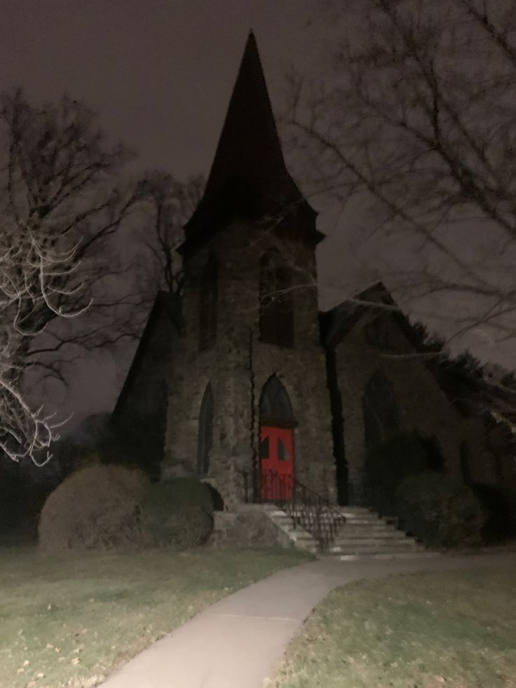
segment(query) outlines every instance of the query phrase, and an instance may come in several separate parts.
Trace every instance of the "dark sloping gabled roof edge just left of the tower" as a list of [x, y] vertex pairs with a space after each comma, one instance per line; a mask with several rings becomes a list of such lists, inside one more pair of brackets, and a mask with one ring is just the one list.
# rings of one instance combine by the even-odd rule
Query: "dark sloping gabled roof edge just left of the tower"
[[125, 397], [130, 392], [133, 386], [133, 379], [137, 375], [137, 372], [142, 366], [143, 360], [147, 355], [149, 349], [149, 344], [152, 339], [152, 335], [156, 331], [157, 323], [161, 315], [165, 313], [170, 321], [171, 325], [175, 330], [177, 330], [179, 335], [182, 335], [184, 331], [184, 323], [182, 317], [182, 304], [179, 295], [170, 294], [168, 292], [158, 292], [154, 304], [149, 313], [149, 318], [147, 318], [147, 323], [145, 324], [142, 337], [136, 349], [135, 356], [129, 367], [128, 374], [125, 377], [125, 382], [123, 383], [118, 399], [113, 410], [113, 414], [116, 415], [121, 411]]

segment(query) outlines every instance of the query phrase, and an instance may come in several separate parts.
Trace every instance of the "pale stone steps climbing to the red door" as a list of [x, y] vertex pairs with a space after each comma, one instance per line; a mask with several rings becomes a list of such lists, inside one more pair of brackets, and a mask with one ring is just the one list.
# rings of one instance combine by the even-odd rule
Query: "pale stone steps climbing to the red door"
[[[393, 523], [380, 518], [377, 513], [367, 508], [334, 507], [325, 513], [324, 518], [334, 518], [335, 511], [344, 518], [334, 541], [324, 553], [326, 556], [347, 561], [358, 558], [391, 559], [436, 555], [398, 530]], [[294, 520], [285, 511], [273, 504], [267, 504], [264, 505], [264, 512], [291, 544], [299, 549], [318, 553], [318, 542], [313, 534], [300, 527], [299, 523], [294, 527]]]

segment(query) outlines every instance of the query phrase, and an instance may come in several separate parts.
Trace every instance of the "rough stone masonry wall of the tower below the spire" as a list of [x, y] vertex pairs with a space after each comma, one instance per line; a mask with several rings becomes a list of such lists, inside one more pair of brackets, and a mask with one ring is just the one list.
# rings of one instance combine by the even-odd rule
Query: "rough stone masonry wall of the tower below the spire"
[[[272, 246], [295, 267], [294, 347], [259, 341], [259, 264]], [[217, 342], [199, 351], [199, 285], [210, 252], [218, 267]], [[170, 367], [165, 475], [195, 473], [198, 416], [206, 385], [214, 396], [214, 436], [207, 480], [226, 506], [243, 499], [243, 474], [257, 461], [259, 397], [278, 375], [290, 395], [298, 426], [294, 470], [298, 480], [335, 498], [331, 419], [325, 355], [319, 344], [315, 256], [300, 243], [235, 222], [185, 265], [185, 356]]]

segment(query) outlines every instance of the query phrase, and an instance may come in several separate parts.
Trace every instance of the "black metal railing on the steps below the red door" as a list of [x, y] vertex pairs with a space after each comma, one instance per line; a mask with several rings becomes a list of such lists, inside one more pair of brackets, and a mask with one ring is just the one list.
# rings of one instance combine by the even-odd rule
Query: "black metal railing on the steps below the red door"
[[291, 475], [276, 471], [255, 471], [244, 474], [245, 501], [276, 504], [292, 518], [297, 527], [310, 533], [318, 551], [325, 552], [332, 545], [337, 530], [346, 518], [330, 502]]

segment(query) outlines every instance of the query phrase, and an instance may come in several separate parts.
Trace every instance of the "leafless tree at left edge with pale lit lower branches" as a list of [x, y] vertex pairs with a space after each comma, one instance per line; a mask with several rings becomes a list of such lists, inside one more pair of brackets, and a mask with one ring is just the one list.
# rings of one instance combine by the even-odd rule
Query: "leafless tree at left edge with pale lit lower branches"
[[53, 437], [23, 393], [27, 367], [64, 379], [60, 363], [77, 355], [64, 352], [125, 336], [114, 321], [130, 299], [115, 287], [124, 266], [112, 240], [144, 196], [141, 183], [119, 183], [130, 157], [81, 102], [36, 108], [19, 90], [1, 96], [0, 446], [13, 459], [38, 461]]

